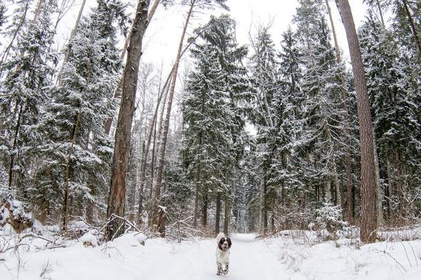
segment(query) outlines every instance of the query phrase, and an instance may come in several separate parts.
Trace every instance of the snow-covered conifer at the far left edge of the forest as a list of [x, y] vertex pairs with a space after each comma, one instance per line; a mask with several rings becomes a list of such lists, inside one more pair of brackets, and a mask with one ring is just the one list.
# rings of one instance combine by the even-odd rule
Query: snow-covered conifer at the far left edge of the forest
[[3, 165], [8, 169], [10, 191], [23, 191], [28, 178], [31, 154], [40, 140], [36, 125], [41, 120], [42, 106], [48, 102], [50, 79], [56, 55], [52, 50], [50, 17], [54, 1], [41, 6], [37, 21], [23, 27], [17, 36], [17, 48], [3, 64], [6, 75], [1, 82], [1, 144]]

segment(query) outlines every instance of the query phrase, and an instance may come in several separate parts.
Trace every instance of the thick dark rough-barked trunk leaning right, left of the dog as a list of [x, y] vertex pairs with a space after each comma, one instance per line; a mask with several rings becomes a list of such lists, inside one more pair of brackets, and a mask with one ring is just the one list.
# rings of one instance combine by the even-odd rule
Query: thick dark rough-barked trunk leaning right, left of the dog
[[[146, 31], [150, 0], [139, 0], [133, 29], [130, 32], [130, 44], [126, 67], [123, 75], [123, 91], [115, 133], [115, 148], [112, 156], [111, 187], [108, 197], [107, 216], [124, 216], [126, 204], [126, 174], [130, 153], [130, 138], [137, 90], [137, 77], [141, 57], [141, 44]], [[106, 227], [106, 240], [111, 240], [124, 230], [122, 221], [115, 219]]]

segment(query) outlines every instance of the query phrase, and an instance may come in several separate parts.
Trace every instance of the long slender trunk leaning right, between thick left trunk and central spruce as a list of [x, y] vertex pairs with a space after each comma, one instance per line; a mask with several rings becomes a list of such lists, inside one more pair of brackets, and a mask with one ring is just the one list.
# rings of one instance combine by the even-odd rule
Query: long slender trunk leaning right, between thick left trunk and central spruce
[[169, 127], [169, 124], [170, 124], [171, 106], [173, 105], [175, 82], [177, 81], [177, 71], [178, 71], [179, 61], [180, 61], [180, 58], [182, 56], [184, 37], [186, 35], [188, 22], [190, 21], [190, 17], [193, 13], [195, 1], [196, 0], [190, 0], [190, 8], [189, 8], [188, 13], [187, 13], [186, 21], [184, 22], [182, 37], [179, 41], [177, 58], [175, 59], [175, 64], [174, 64], [173, 79], [171, 80], [170, 95], [168, 96], [168, 104], [167, 104], [167, 109], [166, 109], [166, 118], [165, 118], [165, 122], [164, 122], [164, 127], [162, 129], [163, 134], [162, 134], [161, 149], [160, 149], [159, 160], [158, 160], [157, 182], [156, 182], [156, 186], [155, 186], [155, 198], [153, 200], [153, 203], [154, 203], [153, 218], [156, 217], [156, 213], [158, 211], [157, 203], [158, 203], [159, 197], [161, 196], [161, 185], [162, 185], [162, 177], [163, 177], [163, 174], [164, 174], [164, 164], [165, 164], [164, 159], [165, 159], [165, 151], [166, 151], [166, 140], [167, 140], [167, 137], [168, 137], [168, 127]]

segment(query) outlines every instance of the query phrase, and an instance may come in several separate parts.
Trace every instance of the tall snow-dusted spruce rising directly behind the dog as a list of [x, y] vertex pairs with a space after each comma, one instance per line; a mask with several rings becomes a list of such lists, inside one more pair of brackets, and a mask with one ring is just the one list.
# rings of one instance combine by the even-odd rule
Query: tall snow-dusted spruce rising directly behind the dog
[[211, 17], [195, 32], [201, 42], [195, 43], [192, 50], [195, 71], [188, 77], [183, 118], [188, 178], [195, 182], [197, 221], [199, 198], [208, 207], [209, 191], [220, 192], [223, 197], [232, 192], [231, 175], [241, 150], [235, 149], [241, 142], [243, 126], [237, 102], [246, 89], [245, 69], [240, 65], [246, 47], [237, 46], [235, 23], [227, 15]]

